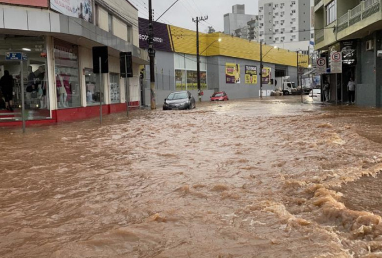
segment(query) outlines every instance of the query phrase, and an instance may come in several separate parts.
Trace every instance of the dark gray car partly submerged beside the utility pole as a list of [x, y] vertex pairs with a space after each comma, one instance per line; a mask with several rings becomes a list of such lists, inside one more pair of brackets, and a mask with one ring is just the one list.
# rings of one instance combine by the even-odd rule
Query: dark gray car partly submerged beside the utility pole
[[191, 92], [179, 91], [170, 93], [165, 98], [163, 110], [185, 110], [196, 108], [196, 101]]

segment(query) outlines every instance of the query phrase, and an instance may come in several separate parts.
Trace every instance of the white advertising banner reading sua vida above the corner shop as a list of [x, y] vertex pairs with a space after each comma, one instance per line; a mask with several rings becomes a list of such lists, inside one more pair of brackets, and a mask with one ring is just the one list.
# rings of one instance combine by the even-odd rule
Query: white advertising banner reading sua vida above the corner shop
[[50, 0], [50, 8], [63, 15], [93, 21], [92, 0]]

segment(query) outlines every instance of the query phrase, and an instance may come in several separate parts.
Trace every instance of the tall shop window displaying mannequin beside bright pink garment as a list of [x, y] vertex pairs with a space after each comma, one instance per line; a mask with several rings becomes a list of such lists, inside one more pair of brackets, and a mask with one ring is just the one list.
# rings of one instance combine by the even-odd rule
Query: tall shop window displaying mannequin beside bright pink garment
[[81, 106], [79, 83], [78, 47], [54, 40], [57, 107]]

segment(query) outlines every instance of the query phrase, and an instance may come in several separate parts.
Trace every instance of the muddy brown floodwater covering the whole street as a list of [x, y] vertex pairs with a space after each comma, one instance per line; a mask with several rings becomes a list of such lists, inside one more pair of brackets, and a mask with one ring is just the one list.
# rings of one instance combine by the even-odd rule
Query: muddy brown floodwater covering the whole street
[[1, 129], [0, 257], [382, 257], [382, 111], [298, 100]]

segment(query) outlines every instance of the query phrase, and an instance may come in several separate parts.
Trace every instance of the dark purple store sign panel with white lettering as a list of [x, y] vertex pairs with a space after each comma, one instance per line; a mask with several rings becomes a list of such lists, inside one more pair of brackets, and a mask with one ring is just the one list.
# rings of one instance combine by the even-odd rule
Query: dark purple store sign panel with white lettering
[[[167, 24], [154, 22], [154, 48], [156, 50], [172, 52], [170, 34]], [[139, 18], [139, 47], [149, 48], [149, 20]]]

